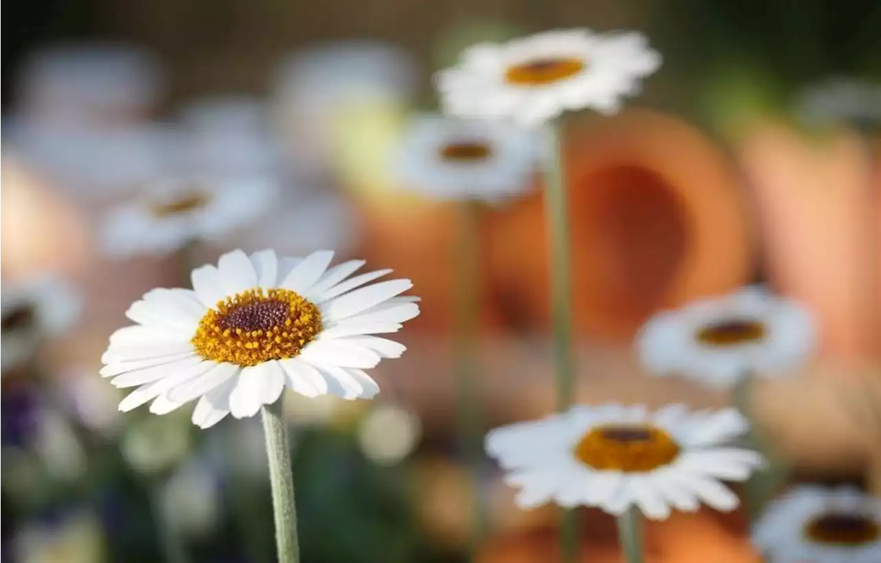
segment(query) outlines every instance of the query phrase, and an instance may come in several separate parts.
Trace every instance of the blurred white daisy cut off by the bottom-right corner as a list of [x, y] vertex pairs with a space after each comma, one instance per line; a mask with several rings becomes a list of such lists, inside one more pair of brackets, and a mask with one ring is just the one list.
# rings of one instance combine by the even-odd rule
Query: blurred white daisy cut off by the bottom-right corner
[[774, 563], [876, 563], [881, 500], [847, 486], [800, 485], [767, 507], [752, 541]]

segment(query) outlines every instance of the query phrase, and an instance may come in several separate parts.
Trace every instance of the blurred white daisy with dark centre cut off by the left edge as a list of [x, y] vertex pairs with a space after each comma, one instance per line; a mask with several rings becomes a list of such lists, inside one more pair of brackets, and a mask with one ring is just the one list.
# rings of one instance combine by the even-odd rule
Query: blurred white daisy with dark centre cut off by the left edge
[[31, 359], [44, 338], [69, 329], [80, 307], [76, 290], [52, 275], [0, 285], [0, 375]]

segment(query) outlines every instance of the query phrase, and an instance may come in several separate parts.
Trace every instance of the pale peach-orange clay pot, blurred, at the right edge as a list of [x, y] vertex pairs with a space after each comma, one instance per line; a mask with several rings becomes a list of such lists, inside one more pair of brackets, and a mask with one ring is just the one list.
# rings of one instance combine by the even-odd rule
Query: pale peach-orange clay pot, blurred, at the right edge
[[756, 200], [771, 282], [811, 307], [824, 352], [866, 355], [875, 315], [870, 229], [877, 229], [878, 213], [870, 209], [870, 162], [861, 138], [844, 130], [812, 138], [767, 123], [745, 137], [738, 152]]

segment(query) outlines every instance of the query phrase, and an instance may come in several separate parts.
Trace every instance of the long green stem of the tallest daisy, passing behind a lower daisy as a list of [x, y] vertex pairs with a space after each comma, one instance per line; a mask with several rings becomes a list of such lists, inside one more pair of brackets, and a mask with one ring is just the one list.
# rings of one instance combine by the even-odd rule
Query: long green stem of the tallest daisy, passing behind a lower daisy
[[[553, 351], [557, 375], [557, 408], [566, 411], [574, 396], [574, 358], [572, 352], [572, 307], [570, 305], [569, 220], [566, 182], [563, 178], [559, 125], [546, 131], [544, 152], [544, 211], [550, 242], [551, 315]], [[578, 557], [578, 518], [566, 510], [560, 527], [561, 559], [574, 563]]]

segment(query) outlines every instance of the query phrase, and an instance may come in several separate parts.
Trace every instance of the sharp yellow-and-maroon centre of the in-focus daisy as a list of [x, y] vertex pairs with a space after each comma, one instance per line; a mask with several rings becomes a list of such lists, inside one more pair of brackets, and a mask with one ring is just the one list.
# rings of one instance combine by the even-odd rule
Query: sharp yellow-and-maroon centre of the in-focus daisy
[[256, 366], [293, 358], [321, 330], [321, 311], [299, 293], [249, 289], [209, 309], [192, 343], [204, 359]]

